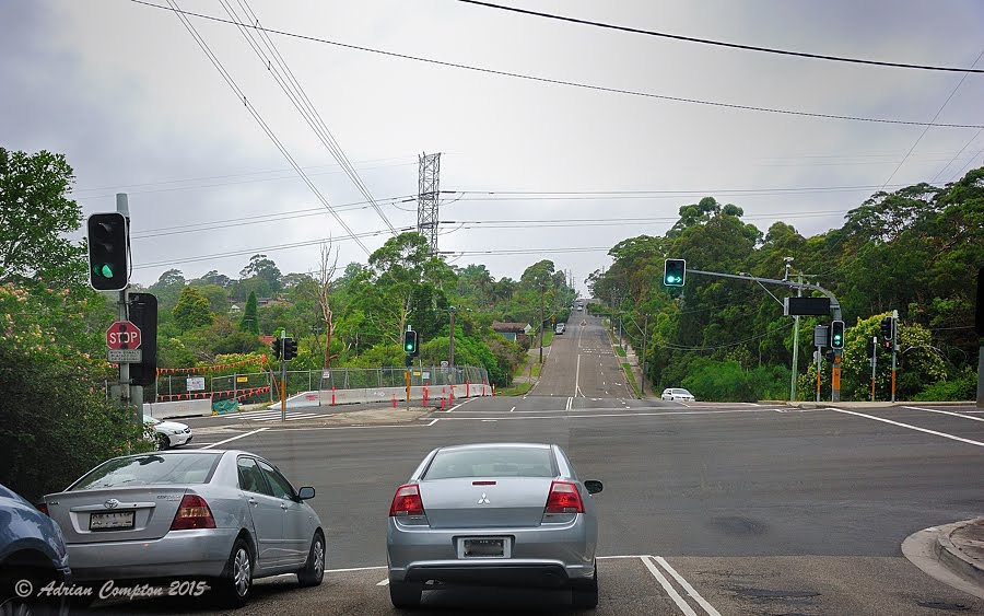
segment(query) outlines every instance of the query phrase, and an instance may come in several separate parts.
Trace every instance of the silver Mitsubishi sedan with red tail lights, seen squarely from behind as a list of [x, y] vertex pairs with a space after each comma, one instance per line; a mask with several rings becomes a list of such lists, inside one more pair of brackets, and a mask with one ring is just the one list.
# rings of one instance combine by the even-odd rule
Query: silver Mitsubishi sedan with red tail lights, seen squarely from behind
[[590, 495], [558, 445], [440, 448], [397, 488], [386, 535], [389, 596], [420, 605], [429, 583], [571, 588], [598, 603], [598, 521]]

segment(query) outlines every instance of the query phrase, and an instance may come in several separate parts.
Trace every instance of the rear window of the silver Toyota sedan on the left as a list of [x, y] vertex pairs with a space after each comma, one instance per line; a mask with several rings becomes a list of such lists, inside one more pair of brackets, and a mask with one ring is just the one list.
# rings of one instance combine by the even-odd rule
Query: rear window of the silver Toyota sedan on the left
[[69, 491], [118, 486], [204, 484], [219, 463], [220, 453], [149, 453], [104, 462], [75, 481]]

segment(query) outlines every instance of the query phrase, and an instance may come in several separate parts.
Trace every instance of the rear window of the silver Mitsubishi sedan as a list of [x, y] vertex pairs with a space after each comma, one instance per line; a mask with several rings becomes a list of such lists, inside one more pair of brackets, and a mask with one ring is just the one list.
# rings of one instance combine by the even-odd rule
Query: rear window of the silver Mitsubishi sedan
[[422, 478], [457, 477], [557, 477], [557, 467], [546, 448], [442, 450]]

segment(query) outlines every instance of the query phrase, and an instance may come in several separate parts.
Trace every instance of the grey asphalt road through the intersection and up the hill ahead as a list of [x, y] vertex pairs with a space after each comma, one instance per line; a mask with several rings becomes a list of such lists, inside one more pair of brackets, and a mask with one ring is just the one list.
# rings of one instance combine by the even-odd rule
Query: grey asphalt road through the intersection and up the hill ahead
[[[271, 423], [227, 443], [314, 486], [328, 538], [319, 588], [259, 582], [237, 614], [396, 613], [383, 567], [395, 487], [431, 449], [482, 441], [558, 443], [583, 479], [605, 483], [598, 614], [984, 613], [900, 549], [916, 531], [984, 513], [984, 414], [636, 400], [600, 324], [575, 318], [528, 396], [393, 426]], [[97, 612], [118, 609], [206, 613], [190, 601]], [[565, 593], [464, 589], [425, 593], [417, 613], [570, 609]]]

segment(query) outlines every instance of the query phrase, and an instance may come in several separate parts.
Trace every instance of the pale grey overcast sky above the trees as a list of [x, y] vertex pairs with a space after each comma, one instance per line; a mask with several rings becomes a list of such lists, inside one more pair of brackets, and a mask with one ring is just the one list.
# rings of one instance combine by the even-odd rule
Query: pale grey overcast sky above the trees
[[[502, 3], [882, 61], [968, 68], [984, 53], [984, 3], [973, 0]], [[230, 19], [220, 0], [177, 4]], [[248, 7], [267, 28], [497, 71], [737, 105], [984, 125], [979, 73], [719, 48], [455, 0], [227, 5], [239, 15]], [[189, 20], [327, 202], [365, 201], [244, 34]], [[441, 220], [456, 223], [442, 224], [440, 249], [456, 253], [455, 265], [483, 263], [496, 278], [551, 258], [584, 290], [587, 275], [610, 263], [609, 247], [664, 233], [680, 206], [702, 196], [742, 207], [763, 232], [783, 220], [815, 235], [840, 226], [886, 183], [944, 184], [984, 164], [976, 128], [923, 136], [922, 126], [671, 102], [270, 37], [396, 229], [417, 224], [418, 155], [442, 153], [441, 189], [450, 193]], [[171, 11], [130, 0], [0, 2], [0, 146], [65, 153], [85, 216], [115, 210], [115, 194], [129, 194], [137, 282], [153, 283], [172, 267], [189, 279], [211, 269], [237, 277], [256, 253], [284, 272], [311, 271], [316, 243], [328, 237], [341, 264], [366, 260]], [[804, 190], [857, 186], [875, 188]], [[500, 195], [477, 194], [485, 191]], [[589, 195], [597, 191], [623, 194]], [[389, 234], [364, 204], [337, 213], [356, 234], [378, 232], [362, 239], [370, 251]], [[583, 252], [562, 252], [570, 248]], [[484, 251], [500, 254], [467, 254]]]

